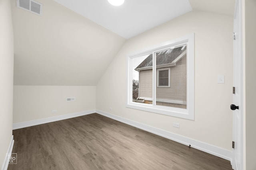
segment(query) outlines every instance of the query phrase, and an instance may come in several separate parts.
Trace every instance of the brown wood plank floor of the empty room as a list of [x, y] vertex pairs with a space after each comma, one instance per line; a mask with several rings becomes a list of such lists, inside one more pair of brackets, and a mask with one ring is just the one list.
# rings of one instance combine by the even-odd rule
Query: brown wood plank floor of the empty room
[[13, 131], [8, 170], [232, 170], [230, 162], [96, 113]]

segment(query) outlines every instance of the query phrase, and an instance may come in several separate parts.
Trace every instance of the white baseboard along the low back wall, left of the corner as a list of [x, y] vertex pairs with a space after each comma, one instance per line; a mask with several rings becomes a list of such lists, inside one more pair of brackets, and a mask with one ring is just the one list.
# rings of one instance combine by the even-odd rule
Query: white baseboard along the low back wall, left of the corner
[[44, 123], [50, 123], [50, 122], [54, 122], [54, 121], [70, 119], [70, 118], [73, 118], [73, 117], [89, 115], [89, 114], [92, 114], [92, 113], [95, 113], [95, 109], [87, 110], [87, 111], [81, 111], [81, 112], [77, 112], [77, 113], [70, 113], [70, 114], [66, 114], [66, 115], [47, 117], [47, 118], [43, 118], [43, 119], [36, 119], [36, 120], [32, 120], [32, 121], [25, 121], [25, 122], [21, 122], [21, 123], [13, 123], [12, 124], [12, 129], [13, 130], [14, 129], [21, 129], [21, 128], [24, 128], [24, 127], [30, 127], [30, 126], [34, 126], [34, 125], [40, 125], [40, 124], [44, 124]]

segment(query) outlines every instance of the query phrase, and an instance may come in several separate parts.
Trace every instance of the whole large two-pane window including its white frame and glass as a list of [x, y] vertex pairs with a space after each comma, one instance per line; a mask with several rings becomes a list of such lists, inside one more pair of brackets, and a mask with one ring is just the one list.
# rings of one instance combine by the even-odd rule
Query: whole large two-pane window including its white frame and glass
[[194, 34], [128, 56], [127, 107], [194, 119]]

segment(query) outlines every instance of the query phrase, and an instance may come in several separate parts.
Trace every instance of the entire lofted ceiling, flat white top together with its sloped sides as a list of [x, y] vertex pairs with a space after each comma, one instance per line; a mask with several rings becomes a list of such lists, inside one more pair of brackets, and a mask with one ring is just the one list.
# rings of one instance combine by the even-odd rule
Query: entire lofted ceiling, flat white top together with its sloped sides
[[42, 16], [11, 0], [14, 85], [95, 86], [126, 39], [191, 10], [234, 12], [234, 0], [36, 1]]

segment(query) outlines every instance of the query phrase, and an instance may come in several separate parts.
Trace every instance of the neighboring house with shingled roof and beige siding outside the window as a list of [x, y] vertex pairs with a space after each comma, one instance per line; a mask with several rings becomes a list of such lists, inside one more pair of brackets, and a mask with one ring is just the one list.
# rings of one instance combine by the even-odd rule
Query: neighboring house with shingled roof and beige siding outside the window
[[[156, 53], [156, 105], [186, 108], [186, 45]], [[152, 54], [139, 72], [138, 102], [152, 104]]]

